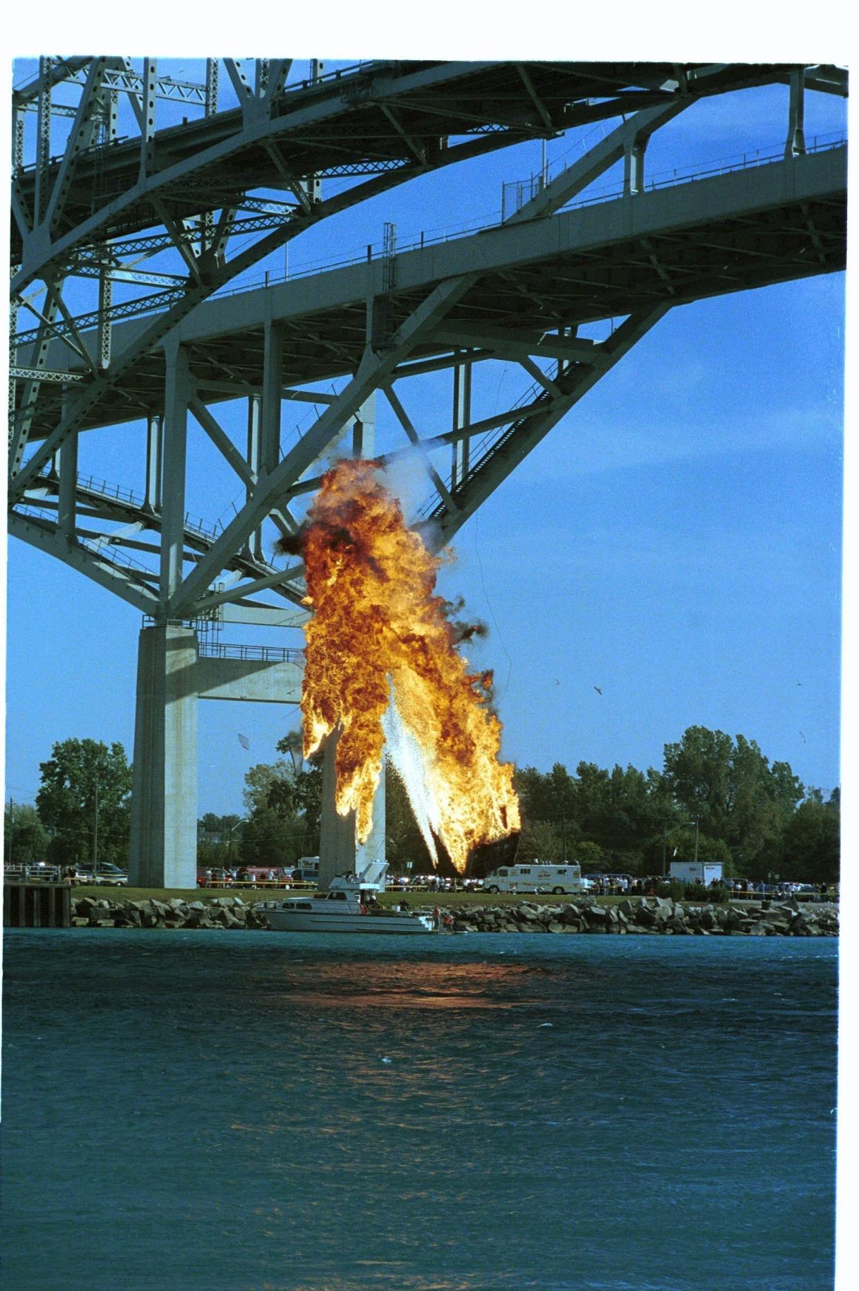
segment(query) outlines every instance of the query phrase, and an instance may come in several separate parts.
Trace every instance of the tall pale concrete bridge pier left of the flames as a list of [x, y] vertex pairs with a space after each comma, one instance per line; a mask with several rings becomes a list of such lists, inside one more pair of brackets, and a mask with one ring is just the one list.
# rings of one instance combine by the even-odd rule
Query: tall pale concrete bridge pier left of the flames
[[196, 887], [197, 634], [141, 631], [134, 720], [133, 887]]

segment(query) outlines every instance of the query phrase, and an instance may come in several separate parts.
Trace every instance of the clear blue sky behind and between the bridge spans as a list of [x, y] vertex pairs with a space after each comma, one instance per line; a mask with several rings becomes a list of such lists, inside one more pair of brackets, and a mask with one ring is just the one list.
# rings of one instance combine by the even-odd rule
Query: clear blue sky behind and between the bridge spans
[[[649, 168], [778, 150], [785, 108], [787, 89], [700, 105], [657, 137]], [[840, 102], [810, 96], [809, 136], [842, 125]], [[552, 141], [549, 160], [569, 150], [580, 143]], [[426, 177], [293, 244], [290, 269], [378, 243], [386, 219], [406, 240], [498, 218], [502, 182], [538, 165], [528, 145]], [[806, 785], [840, 782], [842, 316], [842, 275], [675, 310], [460, 531], [442, 590], [489, 622], [471, 657], [495, 667], [506, 757], [645, 769], [703, 724], [757, 740]], [[529, 383], [516, 372], [481, 376], [484, 414]], [[401, 391], [424, 432], [448, 429], [448, 380]], [[312, 416], [297, 408], [285, 442]], [[378, 432], [380, 448], [401, 442], [382, 404]], [[81, 470], [137, 484], [139, 435], [84, 438]], [[192, 462], [188, 506], [226, 519], [235, 485], [196, 439]], [[130, 757], [139, 626], [107, 591], [10, 541], [6, 797], [32, 800], [55, 740], [119, 740]], [[294, 724], [294, 710], [202, 702], [200, 813], [239, 811], [248, 766], [272, 760]]]

